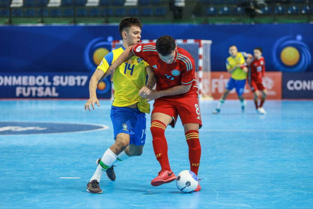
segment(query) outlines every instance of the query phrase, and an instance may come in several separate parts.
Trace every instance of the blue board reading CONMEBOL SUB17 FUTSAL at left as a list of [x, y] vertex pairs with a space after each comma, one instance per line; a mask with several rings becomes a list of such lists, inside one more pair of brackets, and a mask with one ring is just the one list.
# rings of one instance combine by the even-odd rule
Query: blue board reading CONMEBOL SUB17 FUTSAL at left
[[[89, 98], [90, 73], [0, 73], [0, 98]], [[98, 83], [98, 98], [111, 98], [110, 76]]]

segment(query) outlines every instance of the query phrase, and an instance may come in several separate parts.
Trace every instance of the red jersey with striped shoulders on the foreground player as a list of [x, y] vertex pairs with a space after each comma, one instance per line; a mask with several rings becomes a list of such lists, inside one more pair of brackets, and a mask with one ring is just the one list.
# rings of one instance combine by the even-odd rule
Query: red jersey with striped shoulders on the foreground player
[[163, 62], [156, 51], [156, 43], [137, 44], [132, 48], [133, 53], [149, 63], [157, 76], [156, 90], [166, 90], [180, 85], [191, 85], [187, 93], [175, 97], [198, 97], [198, 86], [195, 78], [195, 61], [183, 48], [178, 47], [173, 63]]

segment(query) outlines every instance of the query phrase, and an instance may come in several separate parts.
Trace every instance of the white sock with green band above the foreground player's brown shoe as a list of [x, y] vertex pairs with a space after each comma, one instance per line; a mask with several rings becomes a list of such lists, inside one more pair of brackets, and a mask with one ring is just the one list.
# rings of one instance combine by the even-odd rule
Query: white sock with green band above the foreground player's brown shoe
[[91, 182], [92, 180], [97, 180], [98, 182], [100, 182], [102, 174], [113, 165], [116, 158], [117, 155], [115, 155], [110, 148], [107, 149], [103, 154], [102, 159], [97, 166], [97, 169], [94, 172], [93, 176], [90, 178], [89, 182]]

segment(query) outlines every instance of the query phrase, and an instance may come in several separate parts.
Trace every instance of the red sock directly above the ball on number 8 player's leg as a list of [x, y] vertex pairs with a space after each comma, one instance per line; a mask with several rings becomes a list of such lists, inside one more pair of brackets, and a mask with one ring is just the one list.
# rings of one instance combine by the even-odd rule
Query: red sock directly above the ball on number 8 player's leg
[[185, 136], [189, 147], [190, 170], [198, 175], [201, 158], [201, 144], [199, 141], [199, 132], [196, 130], [187, 131], [185, 133]]

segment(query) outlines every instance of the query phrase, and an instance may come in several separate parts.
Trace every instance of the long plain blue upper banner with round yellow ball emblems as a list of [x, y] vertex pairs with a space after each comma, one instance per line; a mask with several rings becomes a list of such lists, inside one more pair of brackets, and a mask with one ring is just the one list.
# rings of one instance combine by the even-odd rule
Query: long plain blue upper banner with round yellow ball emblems
[[[313, 71], [313, 24], [153, 24], [142, 39], [171, 35], [176, 39], [212, 40], [213, 71], [225, 70], [228, 47], [253, 52], [261, 46], [267, 71]], [[119, 40], [118, 25], [1, 26], [0, 71], [90, 72]]]

